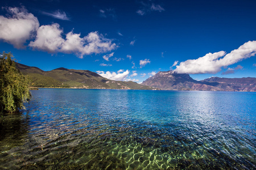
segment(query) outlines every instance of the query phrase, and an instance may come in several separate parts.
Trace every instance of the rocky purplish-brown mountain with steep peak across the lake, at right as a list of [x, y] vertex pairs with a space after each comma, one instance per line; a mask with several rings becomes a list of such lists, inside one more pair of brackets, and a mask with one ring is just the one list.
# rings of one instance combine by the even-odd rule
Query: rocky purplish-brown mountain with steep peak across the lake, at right
[[256, 91], [256, 78], [211, 77], [197, 81], [188, 74], [177, 74], [175, 71], [159, 71], [142, 84], [162, 90]]

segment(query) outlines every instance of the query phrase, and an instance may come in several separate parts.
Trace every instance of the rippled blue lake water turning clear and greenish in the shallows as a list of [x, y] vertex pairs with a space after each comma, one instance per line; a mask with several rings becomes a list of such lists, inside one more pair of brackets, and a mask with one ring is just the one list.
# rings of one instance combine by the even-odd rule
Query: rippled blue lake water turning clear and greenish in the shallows
[[256, 169], [256, 93], [40, 89], [0, 169]]

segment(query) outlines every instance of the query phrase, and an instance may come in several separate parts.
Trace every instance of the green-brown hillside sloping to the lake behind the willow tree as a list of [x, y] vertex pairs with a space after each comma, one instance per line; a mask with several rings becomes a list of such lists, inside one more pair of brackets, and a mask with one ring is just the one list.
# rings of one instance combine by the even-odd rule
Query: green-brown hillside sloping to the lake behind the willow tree
[[135, 82], [109, 80], [89, 70], [73, 70], [63, 67], [51, 71], [43, 71], [38, 67], [30, 67], [16, 63], [21, 73], [30, 76], [34, 87], [65, 88], [105, 88], [105, 89], [137, 89], [156, 90]]

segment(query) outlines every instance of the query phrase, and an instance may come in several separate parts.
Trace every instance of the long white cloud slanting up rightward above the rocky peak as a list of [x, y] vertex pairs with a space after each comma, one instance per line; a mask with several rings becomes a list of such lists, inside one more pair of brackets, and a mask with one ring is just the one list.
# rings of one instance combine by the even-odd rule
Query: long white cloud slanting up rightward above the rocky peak
[[238, 49], [226, 54], [224, 51], [208, 53], [204, 57], [180, 62], [174, 70], [176, 73], [205, 74], [218, 73], [222, 67], [233, 65], [256, 54], [256, 41], [248, 41]]

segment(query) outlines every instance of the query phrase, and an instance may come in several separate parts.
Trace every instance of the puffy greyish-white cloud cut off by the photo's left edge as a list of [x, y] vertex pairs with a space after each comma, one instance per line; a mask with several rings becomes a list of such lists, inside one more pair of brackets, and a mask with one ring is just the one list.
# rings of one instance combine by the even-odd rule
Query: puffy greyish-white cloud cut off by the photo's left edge
[[39, 27], [38, 19], [24, 7], [4, 9], [9, 15], [0, 16], [0, 39], [13, 44], [15, 48], [24, 48], [24, 43], [32, 38]]

